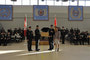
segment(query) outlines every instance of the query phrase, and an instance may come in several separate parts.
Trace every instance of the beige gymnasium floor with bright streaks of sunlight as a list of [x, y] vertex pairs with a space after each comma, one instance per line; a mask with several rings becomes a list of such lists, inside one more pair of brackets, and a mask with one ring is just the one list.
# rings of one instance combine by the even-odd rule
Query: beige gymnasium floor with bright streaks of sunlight
[[39, 48], [39, 52], [28, 52], [26, 42], [0, 46], [0, 60], [90, 60], [90, 45], [60, 44], [59, 52], [48, 51], [48, 45]]

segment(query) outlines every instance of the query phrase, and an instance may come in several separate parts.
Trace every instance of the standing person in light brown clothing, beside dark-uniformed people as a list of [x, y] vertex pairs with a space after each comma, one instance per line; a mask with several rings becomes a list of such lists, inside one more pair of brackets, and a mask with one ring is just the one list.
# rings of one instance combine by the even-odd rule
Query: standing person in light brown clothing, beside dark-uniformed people
[[58, 27], [56, 27], [55, 29], [54, 42], [55, 42], [55, 51], [59, 51], [60, 31], [58, 31]]

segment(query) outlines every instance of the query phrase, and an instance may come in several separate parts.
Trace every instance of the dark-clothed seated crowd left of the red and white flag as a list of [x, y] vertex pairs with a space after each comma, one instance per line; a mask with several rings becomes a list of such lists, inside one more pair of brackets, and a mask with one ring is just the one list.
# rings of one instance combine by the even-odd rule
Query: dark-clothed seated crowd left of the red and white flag
[[6, 33], [4, 30], [1, 30], [0, 33], [0, 45], [6, 46], [11, 42], [21, 42], [24, 39], [23, 30], [10, 30]]

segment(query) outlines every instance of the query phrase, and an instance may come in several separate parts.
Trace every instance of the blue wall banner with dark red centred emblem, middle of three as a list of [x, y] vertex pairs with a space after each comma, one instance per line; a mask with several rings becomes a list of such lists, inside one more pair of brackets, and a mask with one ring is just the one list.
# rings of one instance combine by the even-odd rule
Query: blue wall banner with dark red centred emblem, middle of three
[[48, 5], [33, 6], [33, 20], [47, 21], [49, 19]]

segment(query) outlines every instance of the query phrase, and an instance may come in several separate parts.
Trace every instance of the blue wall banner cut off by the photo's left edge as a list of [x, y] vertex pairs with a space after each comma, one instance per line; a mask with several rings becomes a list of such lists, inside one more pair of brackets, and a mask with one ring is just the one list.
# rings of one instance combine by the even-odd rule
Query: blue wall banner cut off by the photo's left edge
[[8, 21], [12, 20], [13, 16], [12, 5], [0, 5], [0, 20]]

